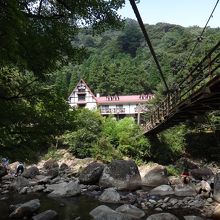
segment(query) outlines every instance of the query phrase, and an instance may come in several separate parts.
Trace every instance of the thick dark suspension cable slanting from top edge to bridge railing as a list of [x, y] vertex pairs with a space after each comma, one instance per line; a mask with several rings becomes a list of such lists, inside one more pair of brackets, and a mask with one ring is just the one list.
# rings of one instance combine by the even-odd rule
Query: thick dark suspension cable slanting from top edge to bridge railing
[[133, 8], [133, 11], [134, 11], [134, 13], [135, 13], [135, 15], [136, 15], [136, 18], [137, 18], [137, 20], [138, 20], [138, 23], [139, 23], [139, 25], [140, 25], [140, 28], [141, 28], [141, 30], [142, 30], [142, 32], [143, 32], [143, 34], [144, 34], [144, 38], [145, 38], [145, 40], [147, 41], [148, 47], [149, 47], [149, 49], [150, 49], [150, 52], [151, 52], [151, 54], [152, 54], [152, 56], [153, 56], [153, 58], [154, 58], [154, 61], [155, 61], [156, 65], [157, 65], [157, 69], [159, 70], [160, 76], [161, 76], [161, 78], [162, 78], [162, 80], [163, 80], [163, 83], [164, 83], [164, 85], [165, 85], [165, 87], [166, 87], [167, 93], [169, 93], [169, 88], [168, 88], [168, 85], [167, 85], [166, 80], [165, 80], [165, 78], [164, 78], [162, 69], [161, 69], [161, 67], [160, 67], [160, 63], [159, 63], [159, 61], [158, 61], [158, 59], [157, 59], [156, 53], [155, 53], [154, 48], [153, 48], [153, 46], [152, 46], [152, 44], [151, 44], [150, 38], [149, 38], [149, 36], [148, 36], [148, 34], [147, 34], [147, 31], [146, 31], [146, 29], [145, 29], [144, 23], [143, 23], [143, 21], [142, 21], [142, 18], [141, 18], [141, 16], [140, 16], [139, 11], [138, 11], [138, 8], [137, 8], [137, 5], [136, 5], [136, 3], [135, 3], [135, 0], [129, 0], [129, 1], [130, 1], [130, 4], [131, 4], [132, 8]]

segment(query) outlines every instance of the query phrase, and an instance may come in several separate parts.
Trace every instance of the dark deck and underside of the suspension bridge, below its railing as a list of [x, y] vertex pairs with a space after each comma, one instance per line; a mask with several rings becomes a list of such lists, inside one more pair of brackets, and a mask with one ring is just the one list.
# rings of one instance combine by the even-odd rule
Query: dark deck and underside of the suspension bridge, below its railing
[[163, 120], [151, 129], [146, 129], [146, 134], [158, 133], [164, 129], [184, 122], [196, 115], [202, 115], [207, 111], [220, 110], [220, 76], [210, 79], [203, 87], [192, 93], [189, 98], [180, 102], [171, 109]]

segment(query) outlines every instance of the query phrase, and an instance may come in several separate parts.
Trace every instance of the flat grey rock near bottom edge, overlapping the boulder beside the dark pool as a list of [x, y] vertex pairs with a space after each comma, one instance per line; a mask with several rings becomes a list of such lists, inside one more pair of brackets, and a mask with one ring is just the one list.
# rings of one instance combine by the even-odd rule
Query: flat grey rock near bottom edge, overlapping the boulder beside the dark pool
[[136, 206], [130, 205], [130, 204], [122, 205], [122, 206], [118, 207], [115, 211], [127, 214], [127, 215], [132, 216], [136, 219], [140, 219], [145, 216], [145, 212], [143, 210], [137, 208]]

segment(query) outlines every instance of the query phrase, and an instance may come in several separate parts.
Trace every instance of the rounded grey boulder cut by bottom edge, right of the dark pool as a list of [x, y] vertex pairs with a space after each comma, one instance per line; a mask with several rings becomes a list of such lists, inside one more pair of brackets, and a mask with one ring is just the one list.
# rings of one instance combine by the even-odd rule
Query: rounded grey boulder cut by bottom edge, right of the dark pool
[[100, 205], [89, 213], [94, 220], [134, 220], [132, 216], [116, 212], [105, 205]]

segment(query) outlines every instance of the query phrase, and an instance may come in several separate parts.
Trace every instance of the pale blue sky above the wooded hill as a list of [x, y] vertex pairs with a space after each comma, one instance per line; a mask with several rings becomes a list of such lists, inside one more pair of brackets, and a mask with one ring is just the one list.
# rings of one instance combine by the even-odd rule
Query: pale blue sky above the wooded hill
[[[137, 4], [142, 20], [145, 24], [165, 22], [184, 27], [204, 27], [217, 0], [140, 0]], [[123, 18], [136, 20], [129, 0], [125, 7], [118, 12]], [[208, 26], [220, 27], [220, 2]]]

